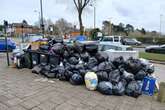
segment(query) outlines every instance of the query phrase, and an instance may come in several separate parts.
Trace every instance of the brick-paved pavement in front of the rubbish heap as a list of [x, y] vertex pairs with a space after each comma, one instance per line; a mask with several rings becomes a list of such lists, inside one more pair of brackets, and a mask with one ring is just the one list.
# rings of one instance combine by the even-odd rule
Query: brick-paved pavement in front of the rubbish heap
[[[164, 65], [156, 65], [162, 81], [163, 70]], [[42, 78], [29, 69], [7, 67], [0, 54], [0, 110], [165, 110], [165, 104], [155, 97], [105, 96], [85, 86]]]

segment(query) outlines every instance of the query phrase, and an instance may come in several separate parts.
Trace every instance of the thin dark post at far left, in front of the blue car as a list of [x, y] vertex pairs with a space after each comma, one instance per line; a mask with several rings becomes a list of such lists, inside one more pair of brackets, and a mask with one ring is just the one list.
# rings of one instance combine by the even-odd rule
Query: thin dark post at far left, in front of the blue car
[[7, 65], [10, 66], [10, 62], [9, 62], [9, 51], [8, 51], [8, 42], [7, 42], [7, 32], [6, 32], [7, 27], [8, 27], [8, 22], [4, 20], [4, 33], [5, 33]]

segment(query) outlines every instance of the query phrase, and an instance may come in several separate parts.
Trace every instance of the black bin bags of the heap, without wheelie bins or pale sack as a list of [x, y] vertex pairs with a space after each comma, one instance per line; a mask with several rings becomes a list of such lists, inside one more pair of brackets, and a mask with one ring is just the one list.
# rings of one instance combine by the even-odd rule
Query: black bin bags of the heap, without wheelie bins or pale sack
[[154, 72], [153, 65], [139, 59], [124, 60], [119, 57], [110, 61], [108, 55], [98, 52], [96, 44], [65, 45], [61, 40], [52, 40], [40, 51], [60, 56], [59, 65], [41, 63], [32, 69], [32, 73], [48, 78], [69, 81], [73, 85], [84, 84], [87, 72], [95, 72], [98, 77], [97, 91], [104, 95], [141, 95], [142, 81]]

